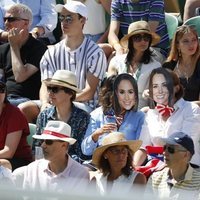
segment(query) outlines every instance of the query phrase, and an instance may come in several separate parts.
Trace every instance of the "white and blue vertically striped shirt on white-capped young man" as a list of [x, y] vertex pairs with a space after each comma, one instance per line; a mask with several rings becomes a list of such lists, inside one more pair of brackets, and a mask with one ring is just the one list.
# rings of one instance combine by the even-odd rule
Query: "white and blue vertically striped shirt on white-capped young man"
[[[40, 70], [42, 81], [51, 78], [56, 70], [63, 69], [75, 73], [79, 89], [85, 88], [88, 72], [100, 80], [100, 86], [107, 69], [107, 60], [103, 50], [86, 37], [82, 44], [74, 51], [70, 51], [65, 45], [65, 40], [62, 40], [53, 47], [50, 47], [41, 59]], [[94, 98], [86, 102], [92, 109], [98, 104], [97, 94], [99, 86], [96, 89]]]

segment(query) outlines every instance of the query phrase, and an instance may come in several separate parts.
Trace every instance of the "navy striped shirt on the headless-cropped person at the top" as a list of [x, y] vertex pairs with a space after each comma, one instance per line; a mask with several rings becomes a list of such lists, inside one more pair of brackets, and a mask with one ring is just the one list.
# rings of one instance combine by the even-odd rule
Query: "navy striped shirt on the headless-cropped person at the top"
[[120, 22], [122, 35], [127, 34], [128, 26], [135, 21], [157, 21], [159, 25], [156, 33], [161, 41], [155, 46], [167, 56], [169, 49], [169, 37], [164, 15], [163, 0], [113, 0], [111, 4], [111, 20]]

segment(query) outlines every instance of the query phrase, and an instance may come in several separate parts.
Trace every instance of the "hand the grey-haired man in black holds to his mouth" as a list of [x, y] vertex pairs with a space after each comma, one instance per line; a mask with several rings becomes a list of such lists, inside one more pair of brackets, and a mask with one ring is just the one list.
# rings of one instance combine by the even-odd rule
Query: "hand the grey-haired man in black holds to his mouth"
[[12, 28], [8, 32], [8, 41], [11, 47], [21, 47], [25, 38], [24, 29]]

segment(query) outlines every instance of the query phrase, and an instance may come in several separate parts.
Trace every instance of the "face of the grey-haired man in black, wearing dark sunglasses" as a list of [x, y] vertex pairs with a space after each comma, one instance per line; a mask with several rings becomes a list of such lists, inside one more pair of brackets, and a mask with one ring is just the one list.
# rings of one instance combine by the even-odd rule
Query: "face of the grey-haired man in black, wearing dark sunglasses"
[[4, 17], [5, 29], [7, 31], [12, 28], [17, 28], [19, 30], [28, 29], [29, 20], [21, 17], [19, 14], [14, 14], [11, 12], [6, 12]]

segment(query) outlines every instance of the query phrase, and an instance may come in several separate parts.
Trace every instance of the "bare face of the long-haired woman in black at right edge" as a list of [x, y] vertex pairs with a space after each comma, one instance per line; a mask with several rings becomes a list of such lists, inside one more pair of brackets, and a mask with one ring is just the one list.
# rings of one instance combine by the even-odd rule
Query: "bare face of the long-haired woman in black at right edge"
[[182, 56], [192, 56], [197, 51], [198, 40], [192, 33], [185, 33], [179, 40], [178, 49], [181, 51]]

